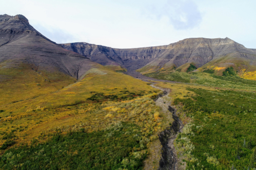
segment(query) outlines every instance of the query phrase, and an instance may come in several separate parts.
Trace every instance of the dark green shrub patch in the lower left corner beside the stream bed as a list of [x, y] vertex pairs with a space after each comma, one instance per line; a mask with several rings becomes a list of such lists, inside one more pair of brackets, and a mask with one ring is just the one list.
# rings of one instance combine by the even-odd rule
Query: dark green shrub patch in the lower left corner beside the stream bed
[[139, 129], [125, 123], [106, 131], [57, 133], [45, 143], [6, 151], [0, 169], [142, 169], [140, 140]]

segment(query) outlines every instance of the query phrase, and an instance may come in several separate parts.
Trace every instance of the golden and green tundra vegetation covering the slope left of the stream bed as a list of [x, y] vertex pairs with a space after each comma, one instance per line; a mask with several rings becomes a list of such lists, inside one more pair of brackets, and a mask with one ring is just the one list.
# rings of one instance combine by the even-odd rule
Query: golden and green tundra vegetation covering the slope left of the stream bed
[[52, 74], [11, 70], [0, 70], [0, 169], [142, 169], [171, 121], [153, 101], [160, 90], [103, 66], [55, 89]]

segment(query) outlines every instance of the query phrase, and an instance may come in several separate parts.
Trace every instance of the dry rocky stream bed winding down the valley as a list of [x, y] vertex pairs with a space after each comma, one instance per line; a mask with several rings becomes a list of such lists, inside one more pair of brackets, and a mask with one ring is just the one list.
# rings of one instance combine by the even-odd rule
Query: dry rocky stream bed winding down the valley
[[[145, 82], [150, 82], [150, 83], [152, 83], [152, 81], [174, 83], [172, 81], [156, 80], [153, 78], [149, 78], [144, 75], [141, 75], [139, 72], [136, 72], [136, 71], [126, 72], [125, 74]], [[155, 104], [161, 107], [163, 112], [171, 113], [171, 114], [167, 114], [168, 115], [167, 119], [173, 119], [172, 125], [170, 127], [167, 127], [164, 131], [162, 131], [159, 134], [159, 140], [162, 144], [162, 152], [161, 152], [162, 156], [159, 161], [158, 169], [159, 170], [180, 169], [181, 167], [178, 168], [178, 163], [180, 163], [181, 160], [179, 160], [176, 154], [176, 150], [174, 147], [174, 140], [176, 139], [178, 134], [182, 132], [182, 129], [184, 127], [183, 123], [180, 120], [179, 116], [176, 115], [175, 106], [171, 106], [171, 98], [168, 96], [171, 90], [168, 88], [160, 88], [160, 87], [154, 86], [153, 84], [151, 84], [150, 86], [163, 91], [163, 94], [159, 95], [158, 98], [155, 100]], [[148, 168], [144, 168], [144, 169], [148, 169]]]

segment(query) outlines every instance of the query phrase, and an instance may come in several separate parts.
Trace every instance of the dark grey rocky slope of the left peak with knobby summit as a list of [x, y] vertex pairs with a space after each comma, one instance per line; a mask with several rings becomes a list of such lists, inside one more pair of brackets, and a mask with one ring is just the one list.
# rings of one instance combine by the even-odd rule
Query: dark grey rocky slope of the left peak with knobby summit
[[97, 65], [43, 36], [25, 16], [7, 14], [0, 15], [0, 63], [5, 61], [30, 64], [35, 70], [61, 71], [76, 79]]

